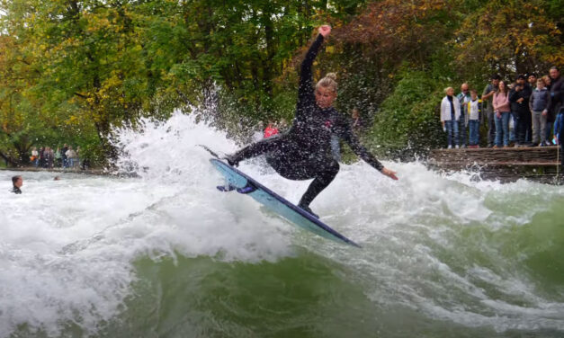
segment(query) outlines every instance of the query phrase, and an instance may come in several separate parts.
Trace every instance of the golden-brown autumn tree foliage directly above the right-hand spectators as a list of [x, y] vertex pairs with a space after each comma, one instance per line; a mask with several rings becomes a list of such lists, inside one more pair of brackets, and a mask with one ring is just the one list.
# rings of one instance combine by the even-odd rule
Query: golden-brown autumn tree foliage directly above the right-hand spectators
[[[564, 41], [546, 1], [490, 1], [456, 31], [456, 61], [468, 76], [513, 77], [564, 65]], [[561, 18], [560, 18], [561, 20]]]

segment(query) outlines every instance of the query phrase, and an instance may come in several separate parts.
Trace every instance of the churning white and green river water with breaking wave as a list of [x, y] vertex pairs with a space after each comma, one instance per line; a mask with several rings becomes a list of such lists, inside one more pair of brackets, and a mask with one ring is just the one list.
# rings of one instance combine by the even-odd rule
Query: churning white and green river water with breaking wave
[[564, 336], [564, 187], [341, 165], [311, 207], [357, 249], [217, 191], [190, 116], [120, 135], [139, 178], [0, 171], [0, 337]]

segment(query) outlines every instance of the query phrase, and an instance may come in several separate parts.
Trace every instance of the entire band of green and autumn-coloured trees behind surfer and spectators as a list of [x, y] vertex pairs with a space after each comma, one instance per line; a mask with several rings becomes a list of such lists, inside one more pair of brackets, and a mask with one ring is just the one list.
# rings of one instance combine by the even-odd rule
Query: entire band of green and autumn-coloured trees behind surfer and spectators
[[0, 0], [0, 157], [19, 165], [33, 146], [69, 143], [102, 163], [113, 127], [192, 106], [245, 141], [260, 121], [293, 118], [301, 54], [326, 22], [315, 77], [337, 73], [337, 108], [375, 120], [366, 140], [380, 152], [435, 147], [446, 84], [563, 66], [562, 11], [558, 0]]

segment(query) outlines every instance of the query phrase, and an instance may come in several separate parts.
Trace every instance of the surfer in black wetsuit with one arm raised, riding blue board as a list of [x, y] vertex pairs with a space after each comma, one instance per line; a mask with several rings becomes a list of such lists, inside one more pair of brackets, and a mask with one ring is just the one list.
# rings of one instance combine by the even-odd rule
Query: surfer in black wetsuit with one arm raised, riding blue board
[[240, 161], [265, 154], [268, 164], [282, 177], [290, 180], [314, 179], [298, 206], [317, 218], [318, 215], [309, 209], [309, 203], [327, 188], [339, 172], [339, 164], [331, 153], [332, 135], [344, 139], [356, 155], [380, 173], [398, 180], [395, 172], [384, 168], [360, 144], [348, 119], [333, 107], [336, 99], [335, 75], [328, 74], [321, 79], [314, 92], [311, 67], [319, 47], [330, 32], [331, 27], [328, 25], [319, 27], [318, 38], [301, 63], [298, 104], [291, 129], [285, 134], [265, 138], [235, 154], [225, 156], [229, 165], [237, 166]]

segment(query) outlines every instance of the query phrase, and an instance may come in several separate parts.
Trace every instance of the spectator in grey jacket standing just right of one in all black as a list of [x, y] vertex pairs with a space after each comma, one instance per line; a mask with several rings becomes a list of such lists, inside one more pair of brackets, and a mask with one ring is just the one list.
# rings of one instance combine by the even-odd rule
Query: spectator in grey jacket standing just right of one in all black
[[533, 120], [533, 145], [539, 147], [550, 145], [546, 139], [547, 118], [549, 111], [547, 110], [551, 101], [551, 93], [544, 87], [542, 78], [537, 80], [536, 88], [531, 94], [529, 101], [529, 109], [532, 111]]

